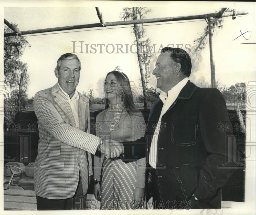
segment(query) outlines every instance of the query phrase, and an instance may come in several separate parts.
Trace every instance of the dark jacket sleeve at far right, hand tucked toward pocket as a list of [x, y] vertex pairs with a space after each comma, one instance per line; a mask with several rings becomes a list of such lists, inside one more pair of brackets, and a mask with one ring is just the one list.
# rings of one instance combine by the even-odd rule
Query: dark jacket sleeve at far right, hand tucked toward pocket
[[[226, 123], [228, 132], [232, 132], [226, 102], [219, 90], [211, 89], [211, 93], [202, 99], [199, 110], [201, 137], [208, 156], [200, 169], [198, 187], [194, 195], [204, 202], [209, 202], [217, 195], [218, 189], [237, 168], [237, 164], [233, 162], [237, 148], [234, 147], [233, 153], [226, 151], [230, 150], [227, 146], [231, 143], [226, 142], [226, 132], [221, 131], [219, 127], [222, 122]], [[232, 162], [232, 167], [221, 168], [227, 158]]]

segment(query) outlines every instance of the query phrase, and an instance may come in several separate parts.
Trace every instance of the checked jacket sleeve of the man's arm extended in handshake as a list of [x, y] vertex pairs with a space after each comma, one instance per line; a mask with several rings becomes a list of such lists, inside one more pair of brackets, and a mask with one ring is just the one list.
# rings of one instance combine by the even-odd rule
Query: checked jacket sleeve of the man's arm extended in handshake
[[66, 123], [50, 102], [49, 96], [39, 91], [34, 98], [38, 122], [56, 139], [89, 153], [95, 154], [101, 139]]

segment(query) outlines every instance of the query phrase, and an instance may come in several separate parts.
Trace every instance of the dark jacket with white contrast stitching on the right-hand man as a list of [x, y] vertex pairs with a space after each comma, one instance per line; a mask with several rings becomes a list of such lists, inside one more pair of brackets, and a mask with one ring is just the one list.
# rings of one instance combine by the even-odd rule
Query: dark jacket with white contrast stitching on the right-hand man
[[[149, 150], [162, 107], [163, 102], [157, 99], [151, 107], [145, 136], [124, 143], [123, 162], [146, 156], [147, 170], [150, 169]], [[232, 125], [221, 92], [199, 88], [188, 81], [162, 116], [158, 135], [157, 185], [154, 186], [158, 187], [164, 203], [170, 199], [194, 199], [194, 194], [200, 200], [196, 204], [203, 203], [196, 207], [221, 207], [221, 187], [237, 167], [234, 162], [232, 168], [220, 166], [225, 167], [227, 160], [237, 154], [236, 149], [227, 152], [230, 143], [226, 141], [226, 132], [232, 132]]]

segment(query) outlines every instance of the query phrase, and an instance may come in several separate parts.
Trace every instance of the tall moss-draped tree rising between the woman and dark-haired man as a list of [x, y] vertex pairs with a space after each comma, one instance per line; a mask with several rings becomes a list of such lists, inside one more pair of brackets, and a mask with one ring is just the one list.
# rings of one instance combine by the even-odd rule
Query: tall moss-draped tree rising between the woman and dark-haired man
[[[122, 20], [144, 19], [144, 15], [151, 12], [146, 7], [124, 7], [120, 18]], [[152, 57], [150, 50], [150, 39], [145, 39], [146, 30], [143, 25], [133, 25], [133, 33], [135, 36], [135, 45], [137, 47], [137, 57], [141, 74], [141, 83], [144, 98], [144, 109], [147, 110], [147, 83], [150, 81], [149, 65]]]

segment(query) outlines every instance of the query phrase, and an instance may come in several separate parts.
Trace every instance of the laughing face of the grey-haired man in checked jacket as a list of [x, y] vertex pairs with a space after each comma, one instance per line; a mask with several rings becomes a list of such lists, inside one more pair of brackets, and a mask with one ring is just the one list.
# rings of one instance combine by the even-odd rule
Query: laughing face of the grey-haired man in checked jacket
[[59, 71], [55, 69], [55, 76], [58, 78], [58, 83], [62, 90], [72, 98], [80, 76], [78, 60], [62, 60]]

